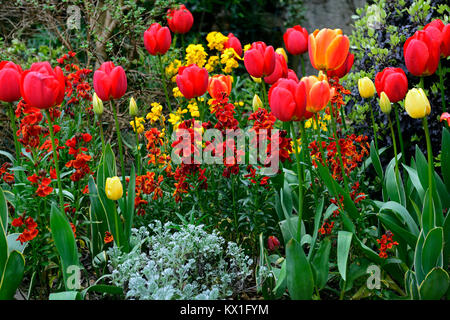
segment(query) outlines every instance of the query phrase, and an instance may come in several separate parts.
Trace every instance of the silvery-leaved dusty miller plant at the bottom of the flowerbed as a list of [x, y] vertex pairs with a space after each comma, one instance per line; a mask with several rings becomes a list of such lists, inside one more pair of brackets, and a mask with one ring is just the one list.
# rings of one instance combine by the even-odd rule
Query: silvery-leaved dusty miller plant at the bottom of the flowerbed
[[127, 299], [224, 299], [244, 289], [253, 261], [236, 243], [202, 225], [177, 229], [158, 221], [132, 230], [130, 253], [109, 249], [112, 283]]

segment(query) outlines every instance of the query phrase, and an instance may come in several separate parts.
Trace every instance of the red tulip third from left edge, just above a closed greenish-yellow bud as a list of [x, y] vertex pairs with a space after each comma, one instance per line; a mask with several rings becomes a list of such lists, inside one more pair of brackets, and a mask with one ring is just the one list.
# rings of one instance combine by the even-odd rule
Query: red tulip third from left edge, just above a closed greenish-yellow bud
[[127, 76], [120, 66], [104, 62], [94, 73], [94, 90], [103, 100], [120, 99], [127, 91]]

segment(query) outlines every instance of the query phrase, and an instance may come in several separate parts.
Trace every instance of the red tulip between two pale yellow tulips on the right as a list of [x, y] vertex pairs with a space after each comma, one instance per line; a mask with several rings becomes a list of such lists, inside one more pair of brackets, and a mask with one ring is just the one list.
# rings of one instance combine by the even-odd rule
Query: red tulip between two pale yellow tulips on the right
[[385, 68], [375, 76], [378, 96], [385, 92], [391, 102], [403, 100], [408, 92], [408, 79], [400, 68]]

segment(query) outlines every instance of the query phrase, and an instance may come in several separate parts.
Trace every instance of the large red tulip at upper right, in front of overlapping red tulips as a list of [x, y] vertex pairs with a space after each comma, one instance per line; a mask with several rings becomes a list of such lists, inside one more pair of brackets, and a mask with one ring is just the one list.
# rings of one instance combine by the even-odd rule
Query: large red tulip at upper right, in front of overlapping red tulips
[[416, 31], [403, 45], [406, 68], [414, 76], [429, 76], [436, 72], [441, 41], [435, 30], [437, 29], [431, 27], [428, 31]]

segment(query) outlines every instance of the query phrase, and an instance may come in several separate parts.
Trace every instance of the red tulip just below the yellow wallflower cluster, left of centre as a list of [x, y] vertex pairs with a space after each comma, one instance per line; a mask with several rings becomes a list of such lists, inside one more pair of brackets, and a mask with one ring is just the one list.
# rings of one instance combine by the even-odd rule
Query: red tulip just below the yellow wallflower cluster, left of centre
[[208, 89], [208, 71], [196, 64], [180, 67], [177, 75], [177, 86], [186, 99], [202, 96]]

